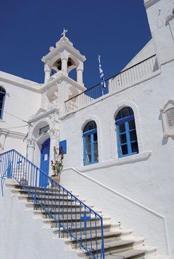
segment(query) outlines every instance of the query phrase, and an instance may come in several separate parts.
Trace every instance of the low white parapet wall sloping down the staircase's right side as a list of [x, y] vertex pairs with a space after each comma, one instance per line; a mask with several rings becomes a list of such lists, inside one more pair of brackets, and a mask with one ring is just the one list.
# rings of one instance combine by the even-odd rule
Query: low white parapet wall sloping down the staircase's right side
[[102, 210], [102, 216], [110, 216], [113, 224], [120, 222], [122, 228], [131, 228], [133, 235], [143, 235], [146, 244], [157, 246], [158, 252], [168, 253], [166, 219], [162, 215], [73, 168], [63, 170], [61, 184], [86, 198], [95, 210]]

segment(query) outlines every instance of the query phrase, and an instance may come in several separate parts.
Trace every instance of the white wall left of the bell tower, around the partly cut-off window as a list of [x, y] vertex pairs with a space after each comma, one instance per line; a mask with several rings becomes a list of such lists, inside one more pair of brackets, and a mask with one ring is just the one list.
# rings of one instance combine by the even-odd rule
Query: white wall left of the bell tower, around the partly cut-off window
[[1, 151], [16, 149], [26, 156], [23, 140], [28, 132], [29, 117], [40, 108], [40, 84], [0, 72], [0, 85], [6, 90], [3, 118], [0, 119]]

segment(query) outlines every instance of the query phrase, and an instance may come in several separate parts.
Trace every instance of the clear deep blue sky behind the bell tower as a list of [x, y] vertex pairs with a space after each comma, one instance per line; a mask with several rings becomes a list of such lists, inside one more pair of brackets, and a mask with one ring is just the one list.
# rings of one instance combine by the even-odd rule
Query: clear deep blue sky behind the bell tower
[[84, 84], [118, 74], [150, 40], [143, 0], [6, 0], [0, 3], [0, 70], [44, 82], [42, 56], [55, 47], [63, 28], [86, 56]]

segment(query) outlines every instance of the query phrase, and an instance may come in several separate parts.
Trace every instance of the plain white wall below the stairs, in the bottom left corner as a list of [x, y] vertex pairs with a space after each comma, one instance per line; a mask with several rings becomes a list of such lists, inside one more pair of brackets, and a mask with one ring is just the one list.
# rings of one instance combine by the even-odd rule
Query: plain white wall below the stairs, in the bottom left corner
[[4, 196], [0, 195], [1, 259], [77, 258], [75, 251], [66, 250], [63, 239], [52, 238], [51, 228], [42, 228], [42, 219], [33, 219], [33, 210], [25, 210], [25, 203], [19, 202], [17, 194], [3, 186]]

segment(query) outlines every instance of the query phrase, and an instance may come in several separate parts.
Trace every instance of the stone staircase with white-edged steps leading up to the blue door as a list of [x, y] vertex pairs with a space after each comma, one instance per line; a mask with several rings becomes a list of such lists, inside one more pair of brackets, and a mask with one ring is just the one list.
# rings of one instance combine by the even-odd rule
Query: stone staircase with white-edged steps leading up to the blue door
[[[100, 258], [100, 250], [102, 249], [102, 235], [97, 233], [96, 236], [96, 220], [92, 218], [90, 222], [86, 222], [86, 227], [84, 227], [84, 230], [81, 231], [81, 218], [77, 215], [77, 206], [74, 206], [69, 197], [66, 197], [65, 199], [65, 197], [62, 197], [62, 194], [57, 197], [53, 192], [50, 192], [49, 189], [45, 190], [45, 195], [47, 196], [45, 206], [47, 206], [47, 210], [50, 210], [51, 212], [52, 203], [50, 203], [50, 201], [54, 201], [54, 215], [58, 218], [58, 222], [61, 223], [60, 227], [58, 222], [52, 218], [52, 216], [47, 213], [45, 209], [40, 206], [40, 204], [34, 202], [33, 197], [31, 197], [28, 192], [22, 188], [22, 186], [16, 183], [7, 184], [7, 186], [11, 188], [11, 192], [13, 194], [18, 195], [20, 202], [25, 203], [26, 210], [33, 210], [34, 219], [42, 219], [42, 228], [51, 228], [54, 239], [58, 239], [59, 237], [64, 239], [67, 250], [73, 249], [77, 251], [77, 258]], [[39, 188], [37, 192], [39, 196]], [[50, 195], [51, 197], [49, 197]], [[78, 197], [77, 194], [76, 196]], [[85, 201], [85, 199], [81, 199], [81, 201]], [[70, 204], [70, 206], [68, 206], [68, 204]], [[93, 204], [86, 203], [86, 205], [93, 208]], [[81, 210], [80, 206], [79, 210]], [[95, 210], [95, 212], [102, 215], [101, 210]], [[102, 215], [102, 219], [104, 230], [104, 257], [106, 259], [169, 258], [165, 255], [159, 255], [156, 247], [150, 247], [145, 244], [143, 237], [133, 235], [130, 229], [122, 229], [120, 222], [113, 223], [111, 222], [111, 217], [105, 215]], [[73, 240], [70, 233], [65, 230], [65, 228], [68, 228], [70, 225], [71, 231], [75, 233], [77, 240]], [[93, 255], [95, 257], [90, 256], [88, 252], [81, 247], [79, 243], [82, 241], [86, 244], [86, 247], [91, 247], [91, 243], [93, 243]]]

